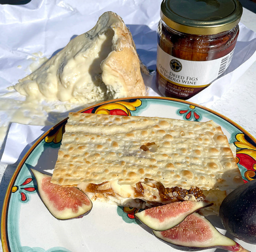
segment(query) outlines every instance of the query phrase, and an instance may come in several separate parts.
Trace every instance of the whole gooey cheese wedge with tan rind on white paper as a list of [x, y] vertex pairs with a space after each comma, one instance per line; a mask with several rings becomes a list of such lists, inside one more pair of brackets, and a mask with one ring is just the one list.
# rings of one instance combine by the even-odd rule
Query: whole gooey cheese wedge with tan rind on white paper
[[73, 38], [14, 88], [30, 99], [79, 103], [146, 93], [133, 38], [113, 12], [103, 13], [93, 29]]

